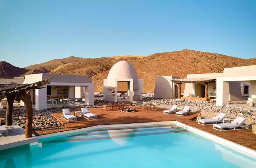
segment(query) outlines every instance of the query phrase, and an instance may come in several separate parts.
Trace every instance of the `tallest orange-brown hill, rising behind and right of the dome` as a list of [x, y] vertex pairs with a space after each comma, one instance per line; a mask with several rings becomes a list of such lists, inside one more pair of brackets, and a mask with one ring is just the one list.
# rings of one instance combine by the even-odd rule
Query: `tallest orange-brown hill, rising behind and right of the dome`
[[[181, 50], [174, 52], [155, 53], [142, 59], [129, 60], [143, 79], [143, 92], [154, 92], [155, 76], [173, 75], [186, 77], [193, 73], [217, 73], [224, 68], [256, 65], [256, 59], [241, 59], [217, 53]], [[103, 71], [93, 76], [95, 90], [102, 90], [103, 79], [108, 76]], [[183, 89], [182, 89], [183, 90]]]

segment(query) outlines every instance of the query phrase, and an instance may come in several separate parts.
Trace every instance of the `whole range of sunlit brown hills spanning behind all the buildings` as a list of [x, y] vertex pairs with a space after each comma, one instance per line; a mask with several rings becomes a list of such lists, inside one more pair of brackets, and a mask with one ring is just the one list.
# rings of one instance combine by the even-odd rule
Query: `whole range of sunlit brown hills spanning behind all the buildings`
[[14, 74], [17, 74], [16, 76], [33, 73], [88, 75], [95, 84], [94, 90], [102, 91], [103, 79], [108, 76], [109, 69], [121, 60], [131, 63], [139, 78], [143, 79], [143, 92], [154, 92], [155, 76], [186, 77], [187, 74], [217, 73], [228, 67], [256, 65], [256, 58], [241, 59], [218, 53], [183, 49], [181, 51], [155, 53], [150, 56], [129, 55], [94, 59], [71, 56], [31, 65], [22, 68], [23, 74], [17, 72]]

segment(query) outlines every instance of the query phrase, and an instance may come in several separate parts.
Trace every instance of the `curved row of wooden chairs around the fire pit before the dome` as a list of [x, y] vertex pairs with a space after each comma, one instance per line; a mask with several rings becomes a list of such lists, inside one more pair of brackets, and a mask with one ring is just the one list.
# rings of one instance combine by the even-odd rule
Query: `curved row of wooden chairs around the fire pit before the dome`
[[102, 104], [102, 111], [114, 111], [123, 109], [145, 109], [157, 111], [156, 103], [148, 103], [147, 101], [118, 101], [118, 103], [110, 102], [109, 104]]

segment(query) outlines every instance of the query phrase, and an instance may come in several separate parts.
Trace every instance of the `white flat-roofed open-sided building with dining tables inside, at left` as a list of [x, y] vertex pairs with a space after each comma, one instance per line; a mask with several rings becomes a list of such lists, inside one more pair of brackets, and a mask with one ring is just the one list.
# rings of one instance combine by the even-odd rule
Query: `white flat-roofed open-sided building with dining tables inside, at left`
[[[94, 84], [88, 76], [39, 73], [26, 75], [24, 83], [34, 83], [48, 78], [51, 78], [50, 83], [45, 88], [30, 91], [35, 109], [61, 107], [65, 104], [94, 104]], [[20, 101], [20, 105], [24, 106], [25, 104]]]

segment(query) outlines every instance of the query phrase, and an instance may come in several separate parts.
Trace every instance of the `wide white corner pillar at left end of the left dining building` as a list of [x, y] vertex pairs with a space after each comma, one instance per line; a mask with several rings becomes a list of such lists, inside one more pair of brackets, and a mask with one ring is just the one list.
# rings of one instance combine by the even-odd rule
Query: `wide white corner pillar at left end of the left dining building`
[[35, 89], [35, 109], [42, 110], [47, 108], [46, 91], [46, 88]]

